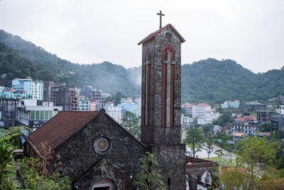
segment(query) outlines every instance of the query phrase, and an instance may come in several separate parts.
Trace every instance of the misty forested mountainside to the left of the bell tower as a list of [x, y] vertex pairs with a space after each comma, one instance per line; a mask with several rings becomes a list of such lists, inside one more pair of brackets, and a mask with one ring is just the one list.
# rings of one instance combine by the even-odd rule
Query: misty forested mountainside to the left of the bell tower
[[[4, 68], [4, 70], [0, 70], [1, 73], [10, 72], [8, 75], [10, 79], [16, 77], [24, 78], [31, 75], [33, 78], [39, 80], [55, 80], [56, 82], [71, 83], [78, 88], [84, 85], [92, 85], [111, 94], [117, 91], [124, 92], [129, 96], [141, 93], [141, 88], [137, 85], [136, 68], [126, 69], [121, 65], [114, 65], [109, 62], [94, 63], [92, 65], [70, 63], [67, 60], [58, 58], [55, 54], [48, 53], [43, 48], [35, 46], [35, 44], [29, 41], [24, 41], [19, 36], [13, 36], [11, 33], [6, 33], [3, 30], [0, 30], [0, 42], [9, 46], [9, 51], [11, 51], [11, 48], [16, 50], [14, 53], [16, 52], [18, 58], [24, 58], [23, 60], [30, 61], [32, 65], [43, 65], [42, 68], [48, 68], [48, 70], [42, 70], [46, 76], [31, 75], [31, 72], [21, 73], [21, 70], [25, 67], [18, 68], [17, 65], [10, 63], [11, 68], [15, 70], [6, 70], [4, 66], [6, 62], [0, 62]], [[26, 68], [28, 68], [28, 66]], [[75, 74], [69, 74], [69, 72]], [[21, 75], [19, 73], [21, 73]], [[48, 78], [48, 76], [50, 76], [50, 78]]]

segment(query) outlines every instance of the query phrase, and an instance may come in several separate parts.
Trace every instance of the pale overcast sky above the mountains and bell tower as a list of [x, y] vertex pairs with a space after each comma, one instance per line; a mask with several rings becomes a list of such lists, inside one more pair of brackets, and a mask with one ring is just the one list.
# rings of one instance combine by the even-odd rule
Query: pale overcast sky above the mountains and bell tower
[[137, 43], [172, 23], [182, 64], [236, 60], [254, 73], [284, 65], [284, 0], [0, 0], [0, 28], [72, 63], [141, 65]]

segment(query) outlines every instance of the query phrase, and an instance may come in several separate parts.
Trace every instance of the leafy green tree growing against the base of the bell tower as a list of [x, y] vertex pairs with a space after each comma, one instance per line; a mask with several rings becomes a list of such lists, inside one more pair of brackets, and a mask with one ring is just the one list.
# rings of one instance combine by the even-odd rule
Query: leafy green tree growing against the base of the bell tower
[[141, 159], [140, 171], [136, 174], [134, 179], [134, 185], [138, 186], [141, 190], [150, 190], [153, 186], [157, 189], [166, 189], [163, 182], [163, 176], [158, 170], [158, 162], [155, 160], [154, 154], [146, 152]]

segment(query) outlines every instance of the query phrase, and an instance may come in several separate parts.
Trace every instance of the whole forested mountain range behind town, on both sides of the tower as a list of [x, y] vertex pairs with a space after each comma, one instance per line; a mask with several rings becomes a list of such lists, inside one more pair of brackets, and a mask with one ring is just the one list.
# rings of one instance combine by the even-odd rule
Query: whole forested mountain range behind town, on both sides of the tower
[[[141, 93], [141, 67], [126, 69], [109, 62], [70, 63], [3, 30], [0, 42], [0, 74], [8, 74], [8, 80], [0, 80], [0, 85], [30, 75], [39, 80], [65, 81], [78, 88], [92, 85], [111, 94], [121, 91], [129, 97]], [[208, 58], [182, 65], [182, 102], [268, 100], [284, 94], [283, 81], [284, 70], [256, 74], [234, 60]]]

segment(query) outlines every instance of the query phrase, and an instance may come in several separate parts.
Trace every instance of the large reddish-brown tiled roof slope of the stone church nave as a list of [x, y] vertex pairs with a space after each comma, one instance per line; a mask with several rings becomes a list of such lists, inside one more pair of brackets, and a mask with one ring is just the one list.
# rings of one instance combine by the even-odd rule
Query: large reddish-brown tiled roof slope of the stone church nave
[[41, 143], [47, 145], [53, 150], [62, 142], [67, 140], [72, 134], [80, 130], [89, 120], [92, 120], [99, 112], [80, 112], [63, 111], [55, 115], [51, 120], [45, 123], [38, 130], [28, 135], [28, 139], [42, 153]]

